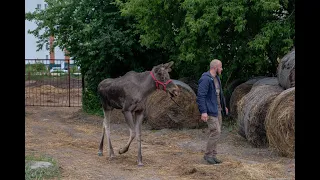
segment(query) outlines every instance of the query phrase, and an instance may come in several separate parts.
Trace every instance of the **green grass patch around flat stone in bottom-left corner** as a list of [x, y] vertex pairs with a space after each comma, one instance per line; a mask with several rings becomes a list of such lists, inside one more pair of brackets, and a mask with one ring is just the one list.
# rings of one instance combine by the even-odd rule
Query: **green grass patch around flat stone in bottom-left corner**
[[[45, 161], [52, 163], [48, 168], [31, 169], [33, 161]], [[60, 171], [57, 162], [47, 155], [25, 155], [25, 179], [60, 179]]]

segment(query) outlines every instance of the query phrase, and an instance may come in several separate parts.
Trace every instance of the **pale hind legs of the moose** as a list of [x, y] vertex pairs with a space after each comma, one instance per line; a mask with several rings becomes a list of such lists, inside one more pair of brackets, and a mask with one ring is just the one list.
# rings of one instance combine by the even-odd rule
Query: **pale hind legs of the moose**
[[114, 157], [114, 151], [113, 151], [111, 139], [110, 139], [111, 110], [104, 110], [103, 113], [104, 113], [104, 119], [103, 119], [103, 127], [102, 127], [102, 137], [101, 137], [101, 141], [100, 141], [98, 155], [99, 156], [103, 155], [103, 139], [104, 139], [104, 134], [106, 134], [107, 135], [107, 142], [108, 142], [109, 158], [112, 159]]

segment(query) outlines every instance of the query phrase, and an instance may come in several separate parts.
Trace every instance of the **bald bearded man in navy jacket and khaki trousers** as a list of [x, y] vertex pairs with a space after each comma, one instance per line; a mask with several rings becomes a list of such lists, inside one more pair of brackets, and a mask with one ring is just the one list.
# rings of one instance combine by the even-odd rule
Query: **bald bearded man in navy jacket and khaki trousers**
[[217, 143], [221, 134], [222, 114], [228, 115], [219, 75], [222, 63], [214, 59], [210, 63], [210, 70], [204, 72], [198, 82], [197, 104], [201, 113], [201, 120], [207, 122], [209, 140], [204, 159], [209, 164], [221, 163], [217, 155]]

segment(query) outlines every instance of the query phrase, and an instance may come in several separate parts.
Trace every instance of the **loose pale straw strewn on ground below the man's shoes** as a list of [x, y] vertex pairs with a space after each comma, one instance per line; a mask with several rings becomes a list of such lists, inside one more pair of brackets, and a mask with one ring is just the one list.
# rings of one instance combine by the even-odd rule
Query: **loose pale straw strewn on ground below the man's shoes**
[[228, 157], [220, 165], [208, 166], [206, 164], [187, 162], [175, 167], [175, 171], [182, 177], [191, 179], [214, 180], [261, 180], [269, 178], [287, 178], [283, 171], [283, 164], [277, 162], [245, 163]]

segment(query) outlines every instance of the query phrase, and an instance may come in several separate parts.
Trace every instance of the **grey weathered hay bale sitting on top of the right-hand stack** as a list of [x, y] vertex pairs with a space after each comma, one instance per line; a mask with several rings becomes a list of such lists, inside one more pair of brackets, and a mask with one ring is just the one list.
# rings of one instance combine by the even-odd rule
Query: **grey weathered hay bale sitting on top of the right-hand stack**
[[277, 77], [284, 89], [295, 86], [295, 48], [281, 59], [277, 68]]

